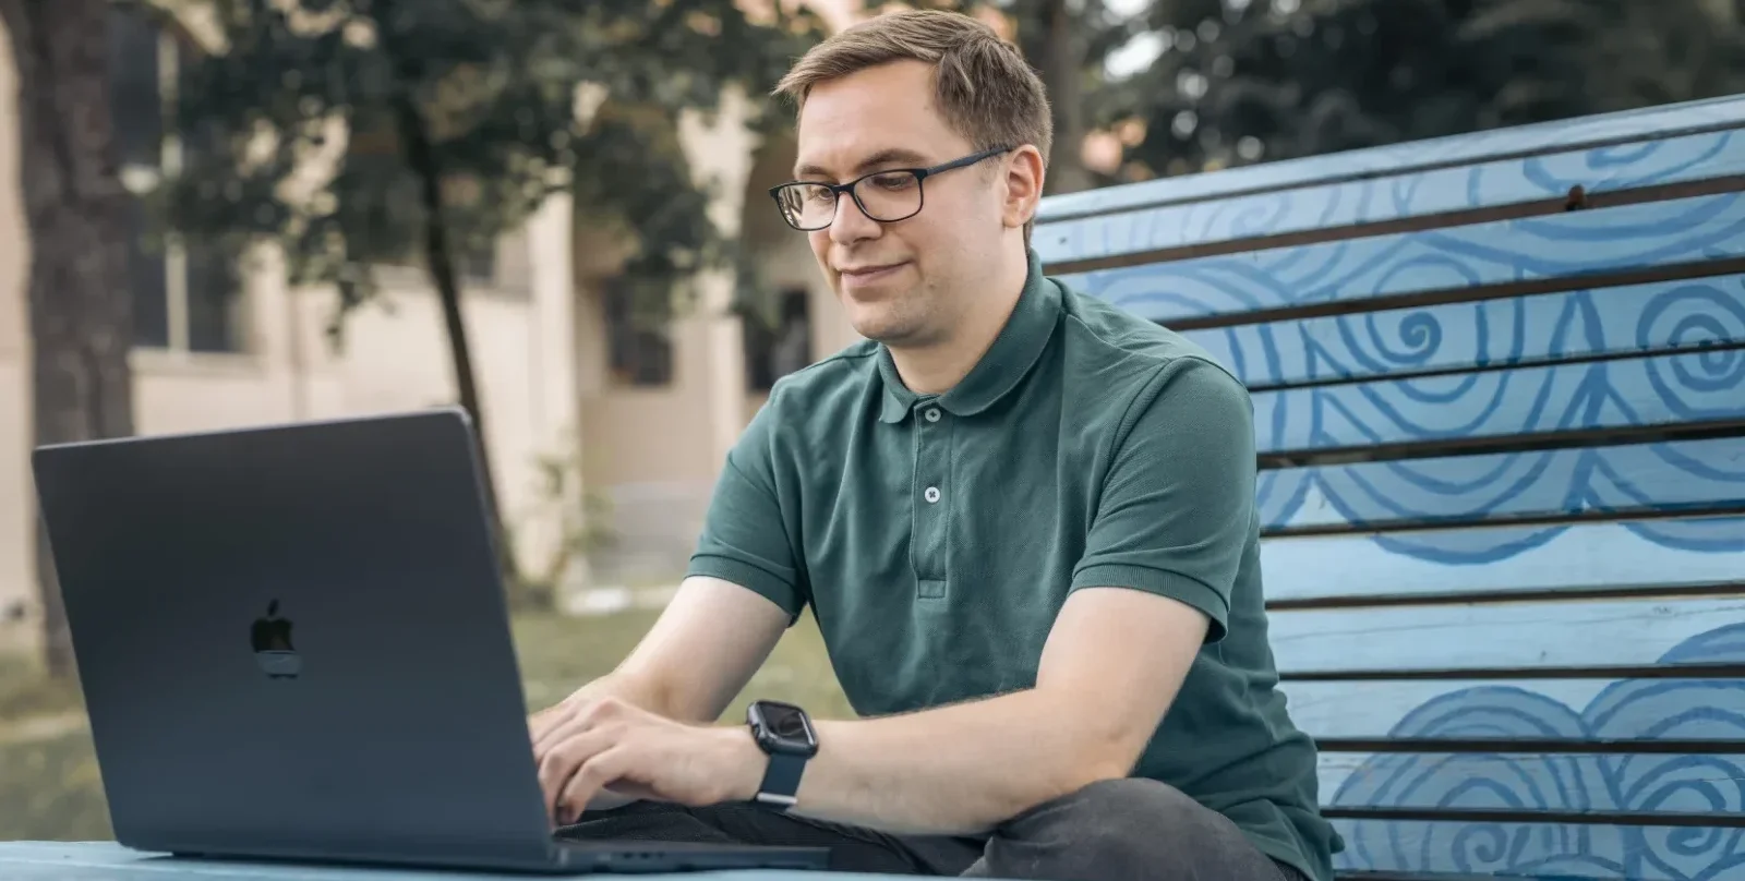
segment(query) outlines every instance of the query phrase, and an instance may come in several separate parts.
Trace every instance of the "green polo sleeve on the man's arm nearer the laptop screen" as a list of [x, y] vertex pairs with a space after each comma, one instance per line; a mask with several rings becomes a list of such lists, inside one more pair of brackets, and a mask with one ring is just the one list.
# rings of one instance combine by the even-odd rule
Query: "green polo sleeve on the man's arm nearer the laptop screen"
[[752, 590], [799, 619], [806, 584], [777, 494], [775, 394], [728, 452], [703, 515], [688, 576], [708, 576]]

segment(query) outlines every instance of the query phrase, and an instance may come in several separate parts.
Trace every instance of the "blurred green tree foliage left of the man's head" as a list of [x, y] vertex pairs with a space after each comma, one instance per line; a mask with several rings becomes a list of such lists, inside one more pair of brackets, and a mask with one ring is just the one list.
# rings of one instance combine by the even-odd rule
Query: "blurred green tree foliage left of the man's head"
[[[679, 110], [712, 112], [731, 84], [768, 92], [818, 33], [731, 0], [211, 2], [223, 49], [181, 73], [168, 220], [230, 246], [276, 239], [291, 283], [335, 283], [342, 307], [373, 293], [373, 265], [426, 256], [412, 108], [452, 253], [489, 248], [569, 188], [590, 223], [632, 236], [628, 281], [665, 311], [698, 267], [733, 258], [679, 148]], [[599, 110], [578, 119], [588, 89]], [[321, 160], [332, 178], [312, 188]]]

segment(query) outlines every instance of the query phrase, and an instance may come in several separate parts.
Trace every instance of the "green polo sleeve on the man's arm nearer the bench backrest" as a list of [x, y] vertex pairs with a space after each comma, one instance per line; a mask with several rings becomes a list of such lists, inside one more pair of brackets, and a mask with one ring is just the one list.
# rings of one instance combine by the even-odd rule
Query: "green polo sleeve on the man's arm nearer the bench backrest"
[[1216, 365], [1160, 366], [1117, 433], [1073, 590], [1134, 588], [1199, 609], [1225, 635], [1255, 541], [1255, 415]]

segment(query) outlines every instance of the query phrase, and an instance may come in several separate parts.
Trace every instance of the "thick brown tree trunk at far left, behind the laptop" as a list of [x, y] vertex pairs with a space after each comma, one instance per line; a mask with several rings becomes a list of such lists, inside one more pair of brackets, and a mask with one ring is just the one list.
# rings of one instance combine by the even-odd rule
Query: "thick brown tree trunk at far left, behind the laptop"
[[[37, 445], [133, 434], [129, 195], [110, 127], [106, 10], [108, 0], [0, 0], [19, 75]], [[40, 523], [37, 572], [45, 661], [66, 677], [72, 637]]]

